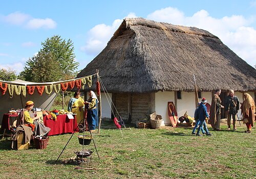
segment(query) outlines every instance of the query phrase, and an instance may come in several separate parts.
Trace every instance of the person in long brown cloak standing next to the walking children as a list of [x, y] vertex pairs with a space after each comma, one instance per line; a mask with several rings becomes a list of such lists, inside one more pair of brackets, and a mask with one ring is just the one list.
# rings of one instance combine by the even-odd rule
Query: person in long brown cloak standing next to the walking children
[[216, 89], [215, 94], [211, 99], [209, 123], [214, 130], [220, 130], [221, 108], [224, 108], [224, 106], [221, 105], [220, 94], [221, 89]]

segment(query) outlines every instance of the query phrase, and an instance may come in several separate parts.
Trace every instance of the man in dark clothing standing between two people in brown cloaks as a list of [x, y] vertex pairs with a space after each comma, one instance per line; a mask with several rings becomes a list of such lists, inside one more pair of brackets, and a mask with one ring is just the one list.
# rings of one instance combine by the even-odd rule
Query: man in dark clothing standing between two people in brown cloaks
[[236, 115], [239, 110], [239, 99], [237, 96], [234, 96], [234, 91], [232, 89], [229, 90], [228, 96], [224, 100], [224, 107], [225, 107], [225, 112], [227, 113], [227, 125], [228, 125], [227, 129], [230, 130], [230, 121], [232, 116], [233, 129], [237, 130]]

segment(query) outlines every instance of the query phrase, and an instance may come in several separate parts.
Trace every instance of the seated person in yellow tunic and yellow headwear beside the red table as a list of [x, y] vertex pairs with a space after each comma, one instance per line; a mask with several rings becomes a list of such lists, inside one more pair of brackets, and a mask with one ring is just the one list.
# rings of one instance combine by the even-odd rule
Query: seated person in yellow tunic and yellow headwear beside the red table
[[31, 111], [33, 107], [33, 101], [26, 102], [26, 106], [24, 108], [24, 124], [28, 124], [29, 126], [31, 126], [34, 132], [34, 136], [46, 136], [51, 129], [37, 121], [37, 119], [39, 119], [39, 116], [34, 117], [34, 114]]

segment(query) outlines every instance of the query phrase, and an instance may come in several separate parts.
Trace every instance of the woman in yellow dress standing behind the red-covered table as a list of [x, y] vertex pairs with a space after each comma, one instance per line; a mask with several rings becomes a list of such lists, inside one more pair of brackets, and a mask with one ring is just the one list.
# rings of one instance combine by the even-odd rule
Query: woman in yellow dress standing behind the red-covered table
[[80, 97], [80, 92], [75, 92], [74, 97], [70, 99], [68, 104], [68, 111], [76, 114], [77, 123], [84, 119], [84, 100]]

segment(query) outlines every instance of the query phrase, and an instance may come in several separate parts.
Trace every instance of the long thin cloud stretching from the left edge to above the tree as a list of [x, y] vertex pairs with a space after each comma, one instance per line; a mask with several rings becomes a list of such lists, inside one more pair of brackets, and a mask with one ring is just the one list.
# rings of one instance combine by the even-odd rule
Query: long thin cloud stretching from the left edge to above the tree
[[7, 24], [26, 27], [28, 29], [54, 29], [57, 23], [51, 18], [33, 18], [28, 14], [14, 12], [6, 16], [1, 15], [0, 19]]

